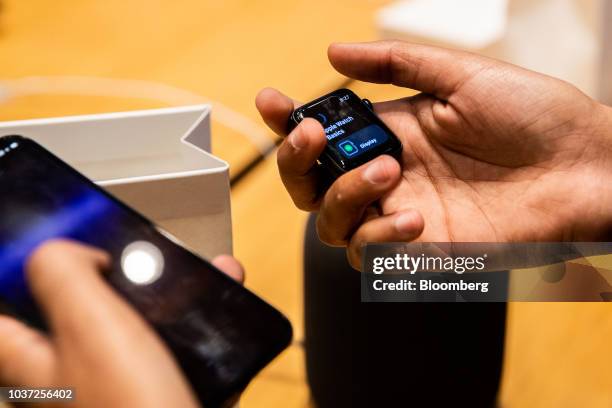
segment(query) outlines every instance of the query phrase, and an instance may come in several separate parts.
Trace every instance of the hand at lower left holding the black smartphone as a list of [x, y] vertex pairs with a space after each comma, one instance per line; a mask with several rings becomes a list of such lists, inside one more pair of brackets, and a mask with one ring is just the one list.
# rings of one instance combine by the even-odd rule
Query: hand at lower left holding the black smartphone
[[[66, 241], [35, 252], [28, 279], [51, 333], [0, 316], [0, 384], [74, 388], [75, 407], [198, 406], [166, 346], [100, 277], [109, 261]], [[233, 258], [213, 263], [242, 280]]]

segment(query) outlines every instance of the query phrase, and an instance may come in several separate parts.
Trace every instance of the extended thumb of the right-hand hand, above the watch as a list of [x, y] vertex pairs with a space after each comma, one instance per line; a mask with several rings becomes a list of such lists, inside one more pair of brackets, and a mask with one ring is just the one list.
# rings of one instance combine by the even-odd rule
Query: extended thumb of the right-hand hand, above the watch
[[463, 51], [402, 41], [335, 43], [328, 56], [351, 78], [416, 89], [448, 99], [463, 83], [496, 61]]

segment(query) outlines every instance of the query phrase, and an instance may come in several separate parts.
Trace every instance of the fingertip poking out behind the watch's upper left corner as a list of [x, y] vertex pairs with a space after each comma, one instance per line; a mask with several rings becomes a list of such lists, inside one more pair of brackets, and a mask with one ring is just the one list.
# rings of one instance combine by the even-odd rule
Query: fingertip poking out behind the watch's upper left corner
[[255, 98], [255, 106], [264, 122], [277, 135], [287, 134], [291, 112], [300, 104], [273, 88], [262, 89]]

